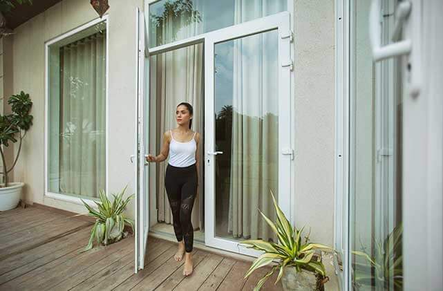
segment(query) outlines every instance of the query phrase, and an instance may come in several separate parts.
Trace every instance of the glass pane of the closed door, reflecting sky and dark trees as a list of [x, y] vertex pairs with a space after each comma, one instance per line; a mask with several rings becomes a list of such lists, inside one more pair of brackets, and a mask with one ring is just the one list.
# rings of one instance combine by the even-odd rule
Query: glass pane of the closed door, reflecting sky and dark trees
[[276, 241], [258, 212], [274, 220], [278, 196], [278, 32], [215, 46], [216, 236]]

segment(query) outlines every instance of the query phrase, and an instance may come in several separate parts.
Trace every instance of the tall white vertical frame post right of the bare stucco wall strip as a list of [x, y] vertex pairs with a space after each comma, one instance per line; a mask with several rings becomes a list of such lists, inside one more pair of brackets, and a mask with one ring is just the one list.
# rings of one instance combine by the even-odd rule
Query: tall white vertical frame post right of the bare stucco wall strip
[[[335, 151], [334, 151], [334, 256], [341, 290], [350, 290], [349, 262], [349, 96], [350, 3], [335, 1]], [[340, 256], [338, 258], [337, 256]], [[343, 271], [339, 266], [339, 259]]]

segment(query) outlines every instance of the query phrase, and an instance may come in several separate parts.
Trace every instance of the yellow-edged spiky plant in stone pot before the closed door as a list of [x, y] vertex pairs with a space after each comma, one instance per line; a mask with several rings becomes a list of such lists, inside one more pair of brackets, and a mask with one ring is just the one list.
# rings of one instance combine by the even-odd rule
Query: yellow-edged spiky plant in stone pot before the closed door
[[279, 270], [279, 275], [275, 283], [281, 279], [283, 290], [322, 290], [323, 283], [328, 281], [328, 277], [326, 277], [325, 266], [321, 262], [321, 251], [332, 252], [332, 249], [319, 243], [310, 243], [309, 234], [302, 242], [303, 227], [292, 229], [285, 214], [277, 205], [272, 191], [271, 195], [277, 214], [276, 223], [267, 218], [260, 209], [258, 211], [279, 238], [279, 243], [263, 240], [248, 240], [240, 243], [248, 248], [264, 252], [249, 267], [245, 278], [259, 267], [275, 262], [276, 265], [258, 281], [254, 290], [260, 290], [276, 270]]

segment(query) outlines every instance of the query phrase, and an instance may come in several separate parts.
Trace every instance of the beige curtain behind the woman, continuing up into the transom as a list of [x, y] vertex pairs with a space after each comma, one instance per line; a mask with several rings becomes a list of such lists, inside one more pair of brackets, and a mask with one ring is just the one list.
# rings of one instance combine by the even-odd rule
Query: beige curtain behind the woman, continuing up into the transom
[[[202, 12], [202, 2], [197, 1], [194, 3], [194, 8]], [[175, 37], [184, 39], [201, 33], [202, 31], [196, 31], [201, 30], [201, 27], [195, 23], [188, 24], [187, 19], [179, 16], [166, 21], [160, 31], [162, 32], [162, 39], [170, 40]], [[160, 142], [158, 142], [159, 147], [157, 150], [160, 151], [160, 145], [163, 142], [162, 134], [177, 126], [175, 112], [176, 106], [180, 102], [189, 102], [194, 107], [192, 130], [203, 133], [203, 45], [195, 44], [157, 55], [154, 69], [156, 75], [155, 91], [158, 110], [160, 111], [157, 113], [158, 121], [160, 121], [157, 135]], [[203, 141], [201, 140], [201, 142]], [[200, 157], [203, 158], [203, 146], [200, 147]], [[194, 201], [191, 218], [194, 229], [202, 229], [202, 204], [200, 204], [204, 190], [202, 187], [202, 166], [203, 162], [200, 160], [199, 194]], [[171, 207], [164, 189], [164, 172], [166, 167], [167, 161], [158, 165], [158, 221], [172, 223]]]

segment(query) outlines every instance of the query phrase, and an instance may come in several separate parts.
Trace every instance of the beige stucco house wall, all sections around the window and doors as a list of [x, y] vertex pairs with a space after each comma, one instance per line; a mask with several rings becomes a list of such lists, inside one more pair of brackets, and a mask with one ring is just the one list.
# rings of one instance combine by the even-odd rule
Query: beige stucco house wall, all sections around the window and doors
[[[135, 6], [111, 0], [109, 10], [109, 189], [133, 182], [135, 147]], [[89, 1], [64, 0], [15, 31], [12, 91], [34, 101], [15, 180], [26, 182], [28, 202], [84, 212], [80, 205], [44, 197], [44, 41], [97, 15]], [[332, 245], [334, 210], [334, 1], [294, 1], [294, 193], [296, 225]], [[11, 63], [12, 63], [11, 62]], [[133, 189], [129, 189], [133, 191]], [[133, 206], [129, 206], [132, 214]]]

